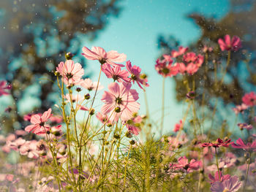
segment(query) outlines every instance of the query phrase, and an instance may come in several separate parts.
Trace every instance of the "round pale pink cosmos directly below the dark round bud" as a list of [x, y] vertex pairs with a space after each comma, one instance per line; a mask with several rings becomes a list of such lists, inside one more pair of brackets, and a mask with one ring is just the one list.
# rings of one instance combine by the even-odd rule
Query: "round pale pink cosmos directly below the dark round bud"
[[77, 85], [84, 74], [83, 67], [72, 60], [61, 62], [56, 70], [61, 74], [66, 85]]

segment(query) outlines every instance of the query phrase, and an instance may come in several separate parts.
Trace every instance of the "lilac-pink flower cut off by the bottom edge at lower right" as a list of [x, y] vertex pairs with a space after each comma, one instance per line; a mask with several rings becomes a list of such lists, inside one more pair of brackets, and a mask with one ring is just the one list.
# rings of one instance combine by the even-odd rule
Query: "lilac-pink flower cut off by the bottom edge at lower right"
[[237, 176], [230, 177], [228, 180], [224, 180], [222, 182], [214, 182], [211, 185], [211, 191], [212, 192], [235, 192], [238, 191], [239, 188], [241, 188], [242, 183], [238, 181]]

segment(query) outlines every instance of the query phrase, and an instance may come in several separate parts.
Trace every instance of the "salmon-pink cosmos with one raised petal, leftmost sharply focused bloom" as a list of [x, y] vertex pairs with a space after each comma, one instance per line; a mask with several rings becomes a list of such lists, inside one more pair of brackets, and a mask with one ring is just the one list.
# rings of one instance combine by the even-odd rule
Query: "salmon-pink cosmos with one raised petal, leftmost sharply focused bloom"
[[32, 115], [30, 122], [33, 125], [26, 126], [25, 131], [32, 132], [34, 134], [45, 134], [46, 131], [49, 131], [50, 126], [45, 124], [46, 121], [50, 118], [51, 109], [44, 112], [42, 116], [40, 115]]

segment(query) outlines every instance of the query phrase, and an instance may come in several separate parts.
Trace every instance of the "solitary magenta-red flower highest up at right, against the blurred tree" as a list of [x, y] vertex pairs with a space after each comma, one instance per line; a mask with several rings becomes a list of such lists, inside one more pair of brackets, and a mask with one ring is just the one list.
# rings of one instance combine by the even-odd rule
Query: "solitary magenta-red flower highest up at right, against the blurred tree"
[[230, 41], [230, 36], [228, 34], [225, 35], [224, 41], [223, 39], [219, 38], [218, 40], [219, 47], [222, 51], [224, 50], [234, 50], [237, 51], [241, 48], [241, 40], [237, 36], [233, 36]]

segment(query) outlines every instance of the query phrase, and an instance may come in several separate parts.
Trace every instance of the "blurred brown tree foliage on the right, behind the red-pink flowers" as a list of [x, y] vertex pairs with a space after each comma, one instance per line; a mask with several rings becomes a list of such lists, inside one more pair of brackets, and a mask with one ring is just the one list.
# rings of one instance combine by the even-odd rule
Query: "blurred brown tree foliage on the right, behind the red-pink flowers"
[[[205, 64], [194, 75], [178, 75], [174, 77], [176, 82], [176, 99], [184, 101], [187, 99], [187, 86], [192, 91], [192, 82], [195, 79], [195, 101], [197, 107], [207, 108], [208, 119], [214, 118], [217, 125], [225, 123], [229, 118], [230, 107], [233, 104], [241, 104], [244, 93], [256, 91], [255, 73], [255, 50], [256, 50], [256, 3], [253, 0], [230, 0], [230, 12], [224, 18], [216, 20], [206, 18], [197, 12], [187, 15], [201, 30], [201, 36], [197, 41], [189, 45], [189, 51], [203, 53], [204, 45], [214, 47], [211, 53], [206, 53]], [[224, 82], [221, 83], [222, 74], [227, 63], [227, 51], [219, 49], [218, 39], [225, 34], [238, 36], [242, 40], [242, 48], [237, 52], [231, 53], [230, 66], [227, 68]], [[160, 35], [158, 38], [159, 49], [162, 53], [170, 54], [173, 49], [177, 50], [180, 45], [178, 40], [173, 37]], [[217, 70], [217, 81], [214, 74]], [[228, 107], [229, 106], [229, 107]], [[206, 110], [206, 109], [204, 109]], [[243, 118], [248, 115], [243, 115]], [[249, 117], [252, 123], [252, 117]], [[248, 119], [247, 119], [248, 120]], [[235, 120], [231, 120], [235, 122]], [[212, 128], [213, 125], [211, 125]]]

